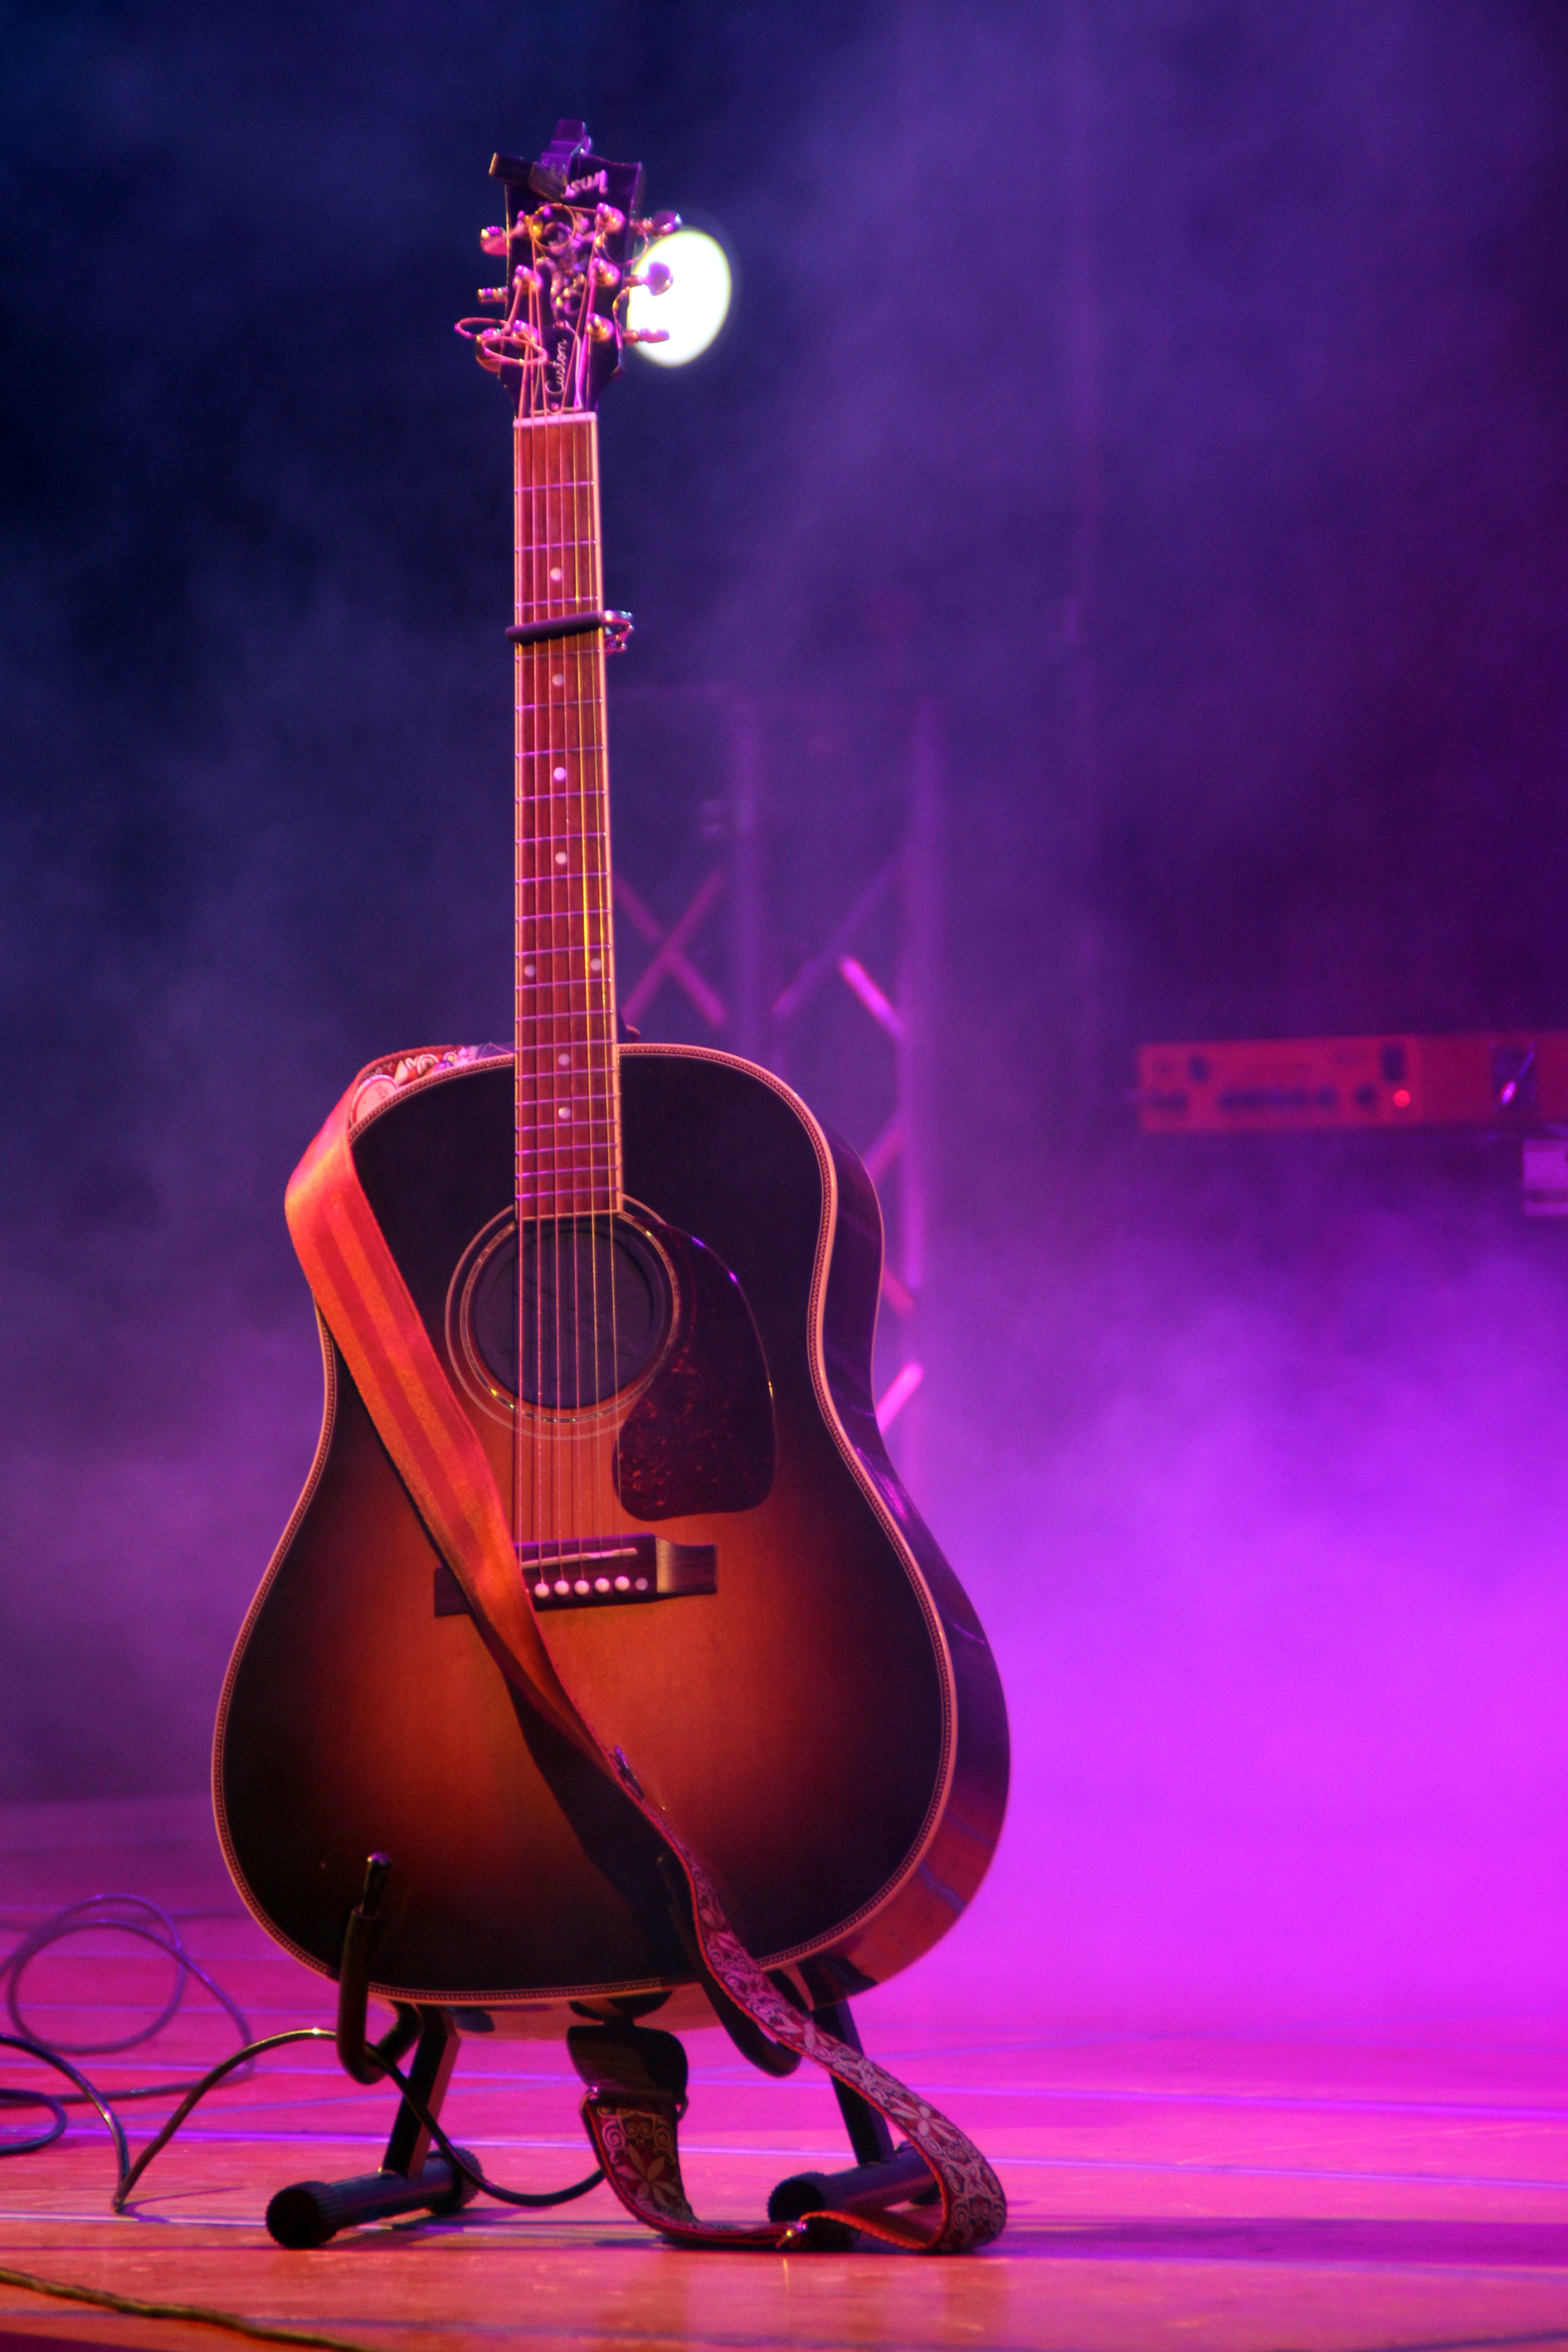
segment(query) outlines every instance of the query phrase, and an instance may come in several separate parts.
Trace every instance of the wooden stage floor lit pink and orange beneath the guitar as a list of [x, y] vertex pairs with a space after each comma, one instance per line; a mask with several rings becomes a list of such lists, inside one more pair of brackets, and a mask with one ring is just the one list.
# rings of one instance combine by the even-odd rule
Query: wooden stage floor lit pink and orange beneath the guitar
[[[106, 1889], [186, 1915], [197, 1959], [254, 2032], [329, 2023], [324, 1990], [237, 1907], [195, 1799], [0, 1811], [7, 1933]], [[45, 2039], [106, 2039], [162, 2004], [167, 1964], [125, 1938], [63, 1945], [28, 1978]], [[139, 2300], [200, 2303], [275, 2328], [397, 2352], [491, 2343], [917, 2347], [1018, 2352], [1314, 2352], [1568, 2347], [1568, 2034], [1561, 2027], [1382, 2034], [931, 2030], [865, 2004], [867, 2046], [992, 2157], [1011, 2199], [980, 2256], [914, 2260], [682, 2253], [597, 2190], [557, 2218], [475, 2206], [458, 2223], [362, 2230], [284, 2253], [263, 2230], [287, 2180], [369, 2171], [390, 2100], [303, 2044], [216, 2091], [110, 2218], [96, 2119], [0, 2164], [0, 2272]], [[82, 2060], [113, 2084], [223, 2053], [200, 1987], [155, 2046]], [[125, 2030], [125, 2027], [122, 2027]], [[33, 2070], [0, 2053], [0, 2079]], [[846, 2161], [825, 2079], [750, 2072], [691, 2039], [684, 2124], [698, 2211], [745, 2216], [806, 2164]], [[33, 2074], [38, 2079], [38, 2074]], [[141, 2145], [167, 2107], [127, 2110]], [[80, 2114], [80, 2110], [78, 2110]], [[576, 2082], [552, 2046], [468, 2042], [444, 2119], [498, 2180], [588, 2171]], [[16, 2131], [24, 2114], [0, 2119]], [[132, 2319], [0, 2284], [0, 2352], [221, 2345], [207, 2326]]]

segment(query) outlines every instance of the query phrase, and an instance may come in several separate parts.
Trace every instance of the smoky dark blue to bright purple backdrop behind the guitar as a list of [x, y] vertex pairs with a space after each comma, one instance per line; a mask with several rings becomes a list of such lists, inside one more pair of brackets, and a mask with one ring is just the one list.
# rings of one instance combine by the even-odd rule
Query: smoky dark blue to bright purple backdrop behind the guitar
[[[919, 1482], [1020, 1740], [961, 1933], [1084, 1997], [1537, 1997], [1568, 1237], [1512, 1145], [1140, 1145], [1126, 1089], [1568, 1025], [1561, 7], [0, 21], [0, 1795], [200, 1783], [315, 1432], [287, 1174], [374, 1054], [505, 1033], [451, 320], [491, 148], [581, 113], [738, 273], [602, 416], [625, 870], [668, 920], [703, 858], [658, 694], [755, 694], [788, 974], [940, 710]], [[877, 1056], [802, 1073], [860, 1143]]]

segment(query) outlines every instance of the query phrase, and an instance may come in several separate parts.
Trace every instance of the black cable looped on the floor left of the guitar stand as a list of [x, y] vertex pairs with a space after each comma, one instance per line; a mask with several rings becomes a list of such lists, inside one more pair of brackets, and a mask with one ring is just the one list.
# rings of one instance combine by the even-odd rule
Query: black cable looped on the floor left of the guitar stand
[[[158, 1929], [162, 1929], [162, 1933], [158, 1933], [158, 1929], [153, 1926], [143, 1926], [139, 1919], [106, 1917], [106, 1912], [113, 1907], [150, 1915], [158, 1922]], [[21, 2016], [21, 1999], [19, 1999], [21, 1976], [31, 1966], [31, 1962], [38, 1959], [40, 1952], [49, 1950], [52, 1943], [59, 1943], [63, 1936], [82, 1936], [92, 1926], [108, 1926], [127, 1936], [141, 1936], [143, 1943], [153, 1943], [158, 1945], [158, 1950], [167, 1952], [179, 1969], [174, 1997], [165, 2002], [165, 2009], [153, 2025], [125, 2037], [122, 2042], [49, 2046], [47, 2042], [40, 2042], [26, 2032], [26, 2018]], [[12, 2023], [19, 2027], [14, 2034], [0, 2034], [0, 2046], [24, 2051], [28, 2058], [38, 2058], [40, 2065], [54, 2067], [56, 2074], [63, 2074], [68, 2082], [75, 2084], [75, 2091], [56, 2096], [47, 2091], [0, 2089], [0, 2105], [7, 2107], [31, 2105], [31, 2107], [47, 2107], [52, 2112], [52, 2122], [45, 2131], [31, 2133], [28, 2138], [21, 2140], [0, 2140], [0, 2157], [24, 2157], [24, 2154], [35, 2154], [40, 2147], [52, 2147], [54, 2140], [59, 2140], [59, 2136], [66, 2129], [68, 2122], [66, 2107], [89, 2105], [99, 2112], [103, 2129], [108, 2131], [115, 2145], [115, 2190], [110, 2197], [110, 2211], [122, 2213], [127, 2197], [146, 2173], [153, 2157], [169, 2145], [169, 2140], [186, 2122], [195, 2103], [202, 2100], [209, 2091], [214, 2091], [228, 2074], [235, 2074], [242, 2067], [249, 2074], [256, 2058], [261, 2058], [266, 2051], [287, 2049], [287, 2044], [292, 2042], [336, 2039], [334, 2032], [324, 2025], [296, 2025], [282, 2034], [266, 2034], [261, 2042], [242, 2039], [242, 2046], [237, 2051], [230, 2051], [228, 2058], [221, 2058], [214, 2067], [209, 2067], [202, 2077], [197, 2077], [197, 2082], [141, 2084], [132, 2091], [115, 2091], [115, 2098], [155, 2098], [160, 2093], [174, 2093], [174, 2091], [183, 2093], [179, 2107], [167, 2119], [167, 2124], [148, 2140], [141, 2154], [132, 2161], [125, 2124], [115, 2114], [113, 2103], [106, 2098], [103, 2091], [96, 2089], [96, 2084], [87, 2079], [87, 2074], [82, 2074], [71, 2063], [71, 2056], [101, 2056], [108, 2051], [139, 2049], [143, 2042], [150, 2042], [153, 2034], [162, 2032], [162, 2027], [172, 2020], [174, 2011], [179, 2009], [186, 1987], [186, 1976], [195, 1976], [197, 1983], [202, 1983], [212, 1992], [212, 1997], [221, 2002], [221, 2006], [240, 2027], [242, 2037], [249, 2034], [249, 2025], [237, 2004], [228, 1997], [228, 1992], [223, 1992], [223, 1987], [212, 1976], [207, 1976], [207, 1971], [195, 1959], [190, 1959], [174, 1919], [169, 1917], [169, 1912], [160, 1910], [158, 1903], [146, 1903], [141, 1896], [89, 1896], [85, 1903], [71, 1903], [66, 1910], [54, 1912], [28, 1936], [24, 1936], [24, 1940], [12, 1952], [7, 1952], [5, 1962], [0, 1962], [0, 1978], [7, 1980], [7, 2009], [12, 2013]], [[458, 2150], [451, 2145], [437, 2119], [430, 2114], [425, 2103], [411, 2089], [409, 2079], [400, 2072], [397, 2065], [393, 2065], [390, 2058], [383, 2058], [374, 2049], [374, 2044], [367, 2049], [367, 2058], [371, 2058], [386, 2072], [388, 2082], [397, 2084], [421, 2126], [430, 2133], [440, 2152], [447, 2157], [447, 2164], [451, 2164], [454, 2173], [461, 2173], [465, 2180], [473, 2180], [475, 2187], [484, 2197], [494, 2197], [496, 2204], [527, 2206], [527, 2209], [571, 2204], [576, 2197], [585, 2197], [590, 2190], [595, 2190], [604, 2178], [604, 2166], [595, 2164], [592, 2173], [588, 2173], [583, 2180], [574, 2180], [564, 2190], [503, 2190], [501, 2183], [487, 2180], [487, 2176], [470, 2157], [458, 2154]]]

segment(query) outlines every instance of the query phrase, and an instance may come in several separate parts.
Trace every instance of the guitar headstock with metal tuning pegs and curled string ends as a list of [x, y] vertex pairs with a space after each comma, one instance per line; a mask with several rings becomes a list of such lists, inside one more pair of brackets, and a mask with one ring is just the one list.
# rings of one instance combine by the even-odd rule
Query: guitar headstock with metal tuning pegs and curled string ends
[[520, 416], [592, 409], [621, 367], [621, 343], [665, 341], [628, 327], [623, 303], [637, 285], [658, 294], [658, 278], [668, 282], [658, 263], [642, 278], [632, 263], [679, 219], [639, 219], [642, 165], [595, 155], [583, 122], [557, 122], [538, 162], [496, 155], [489, 169], [505, 188], [505, 221], [480, 245], [505, 263], [505, 278], [480, 287], [496, 315], [463, 318], [458, 334], [501, 376]]

